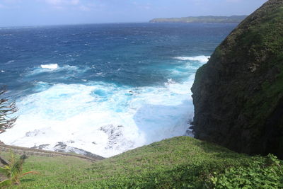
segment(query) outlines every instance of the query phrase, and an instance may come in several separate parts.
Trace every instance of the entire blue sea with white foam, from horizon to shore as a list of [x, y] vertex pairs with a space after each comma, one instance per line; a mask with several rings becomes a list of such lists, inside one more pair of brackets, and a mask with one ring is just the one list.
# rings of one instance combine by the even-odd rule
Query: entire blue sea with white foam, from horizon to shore
[[[197, 68], [236, 25], [0, 28], [0, 85], [19, 108], [6, 144], [101, 156], [184, 135]], [[67, 149], [66, 149], [67, 150]]]

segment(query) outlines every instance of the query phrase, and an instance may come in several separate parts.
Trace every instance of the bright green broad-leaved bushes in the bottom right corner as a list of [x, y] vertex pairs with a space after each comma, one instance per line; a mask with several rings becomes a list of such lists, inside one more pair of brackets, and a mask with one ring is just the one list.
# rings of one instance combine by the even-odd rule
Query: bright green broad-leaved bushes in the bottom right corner
[[282, 161], [269, 154], [247, 166], [231, 167], [210, 178], [214, 188], [283, 188]]

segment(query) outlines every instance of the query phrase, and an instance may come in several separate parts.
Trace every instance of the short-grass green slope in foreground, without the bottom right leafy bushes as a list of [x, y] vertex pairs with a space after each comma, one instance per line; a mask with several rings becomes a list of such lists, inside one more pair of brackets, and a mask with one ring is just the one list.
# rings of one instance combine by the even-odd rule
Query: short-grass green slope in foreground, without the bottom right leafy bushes
[[[190, 137], [175, 137], [95, 164], [74, 157], [31, 156], [14, 188], [205, 188], [229, 167], [264, 159], [237, 154]], [[252, 178], [249, 178], [253, 180]], [[223, 179], [222, 179], [223, 180]]]

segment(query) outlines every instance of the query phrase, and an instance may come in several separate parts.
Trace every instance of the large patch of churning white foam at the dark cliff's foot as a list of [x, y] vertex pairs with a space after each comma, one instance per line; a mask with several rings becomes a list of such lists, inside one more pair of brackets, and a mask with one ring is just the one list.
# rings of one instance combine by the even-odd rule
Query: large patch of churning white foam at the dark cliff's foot
[[[186, 65], [183, 69], [192, 71]], [[194, 76], [144, 87], [38, 82], [37, 93], [16, 102], [21, 116], [13, 129], [1, 134], [1, 141], [23, 147], [49, 144], [44, 148], [49, 150], [62, 142], [109, 157], [183, 135], [194, 112], [190, 97]]]

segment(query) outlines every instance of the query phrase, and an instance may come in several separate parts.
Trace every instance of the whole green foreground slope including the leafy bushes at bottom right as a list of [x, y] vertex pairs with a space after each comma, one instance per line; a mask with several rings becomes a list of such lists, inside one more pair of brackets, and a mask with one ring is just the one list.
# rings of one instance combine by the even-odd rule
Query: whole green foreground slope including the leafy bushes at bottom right
[[283, 161], [275, 156], [238, 154], [191, 137], [166, 139], [95, 163], [30, 156], [23, 167], [43, 176], [30, 174], [7, 189], [282, 188], [283, 183]]

